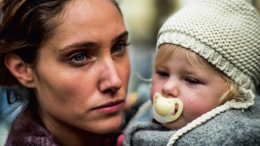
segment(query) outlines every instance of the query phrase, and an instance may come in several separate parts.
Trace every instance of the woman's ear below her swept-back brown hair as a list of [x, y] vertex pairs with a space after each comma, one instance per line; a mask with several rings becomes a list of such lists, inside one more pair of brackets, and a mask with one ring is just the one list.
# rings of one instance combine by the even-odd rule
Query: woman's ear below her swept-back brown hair
[[17, 80], [28, 88], [35, 88], [33, 68], [28, 65], [16, 54], [6, 54], [5, 65]]

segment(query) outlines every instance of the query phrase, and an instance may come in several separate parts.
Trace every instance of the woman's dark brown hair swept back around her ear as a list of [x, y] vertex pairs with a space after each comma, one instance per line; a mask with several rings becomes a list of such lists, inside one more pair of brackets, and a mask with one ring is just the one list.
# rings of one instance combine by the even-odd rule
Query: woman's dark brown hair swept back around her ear
[[69, 0], [4, 0], [0, 27], [0, 85], [18, 85], [4, 64], [5, 55], [15, 53], [35, 66], [41, 42], [53, 34], [58, 16]]

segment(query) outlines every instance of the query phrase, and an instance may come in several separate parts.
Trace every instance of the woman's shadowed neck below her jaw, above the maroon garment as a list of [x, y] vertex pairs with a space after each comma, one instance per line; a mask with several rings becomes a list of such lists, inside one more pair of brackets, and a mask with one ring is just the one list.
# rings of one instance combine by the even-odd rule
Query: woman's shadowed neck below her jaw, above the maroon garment
[[55, 120], [47, 113], [38, 110], [44, 126], [55, 135], [63, 146], [100, 146], [101, 135], [84, 131], [69, 124]]

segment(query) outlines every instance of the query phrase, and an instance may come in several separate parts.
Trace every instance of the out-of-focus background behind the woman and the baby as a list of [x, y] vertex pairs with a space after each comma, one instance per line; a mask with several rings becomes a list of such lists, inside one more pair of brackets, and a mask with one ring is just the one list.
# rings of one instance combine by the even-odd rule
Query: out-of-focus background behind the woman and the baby
[[[152, 60], [155, 54], [157, 33], [161, 25], [189, 0], [118, 0], [126, 27], [129, 31], [128, 46], [131, 75], [128, 89], [125, 125], [137, 108], [149, 99], [149, 81], [152, 76]], [[260, 10], [260, 0], [252, 0]], [[0, 146], [8, 135], [15, 114], [4, 117], [12, 107], [8, 105], [5, 89], [0, 87]]]

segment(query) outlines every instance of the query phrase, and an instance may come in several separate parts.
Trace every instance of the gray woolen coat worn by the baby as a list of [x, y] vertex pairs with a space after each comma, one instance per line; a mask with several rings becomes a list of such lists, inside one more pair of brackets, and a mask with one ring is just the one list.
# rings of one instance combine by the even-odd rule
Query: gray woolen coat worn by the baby
[[[124, 146], [166, 146], [176, 130], [153, 123], [151, 108], [127, 126]], [[260, 97], [255, 105], [245, 109], [230, 109], [216, 115], [206, 123], [185, 133], [173, 144], [175, 146], [209, 145], [242, 146], [260, 145]]]

